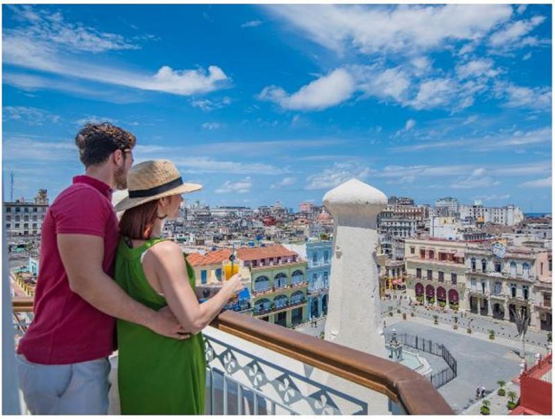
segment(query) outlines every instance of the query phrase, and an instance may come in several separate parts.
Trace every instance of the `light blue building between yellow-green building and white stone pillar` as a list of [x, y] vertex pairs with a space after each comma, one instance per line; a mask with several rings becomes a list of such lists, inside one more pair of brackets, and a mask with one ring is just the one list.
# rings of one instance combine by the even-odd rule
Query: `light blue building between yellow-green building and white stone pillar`
[[286, 243], [284, 246], [308, 263], [308, 318], [325, 316], [329, 302], [332, 241], [313, 239], [306, 243]]

